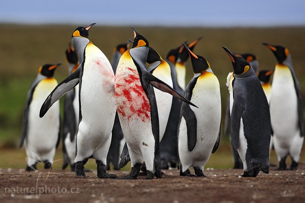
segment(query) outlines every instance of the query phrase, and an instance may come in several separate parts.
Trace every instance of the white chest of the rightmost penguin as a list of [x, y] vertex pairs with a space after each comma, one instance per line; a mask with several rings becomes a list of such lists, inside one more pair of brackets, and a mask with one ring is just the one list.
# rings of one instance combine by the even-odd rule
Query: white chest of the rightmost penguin
[[277, 65], [273, 75], [270, 116], [276, 136], [294, 136], [297, 130], [297, 96], [289, 68]]

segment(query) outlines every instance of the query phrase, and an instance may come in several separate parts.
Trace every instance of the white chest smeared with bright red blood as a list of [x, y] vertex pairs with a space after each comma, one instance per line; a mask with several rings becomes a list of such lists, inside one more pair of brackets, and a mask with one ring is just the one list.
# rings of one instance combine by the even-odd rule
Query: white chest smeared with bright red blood
[[[145, 137], [153, 138], [150, 103], [141, 85], [131, 57], [121, 57], [115, 75], [115, 100], [124, 137], [130, 147], [142, 145]], [[145, 142], [146, 143], [146, 142]]]

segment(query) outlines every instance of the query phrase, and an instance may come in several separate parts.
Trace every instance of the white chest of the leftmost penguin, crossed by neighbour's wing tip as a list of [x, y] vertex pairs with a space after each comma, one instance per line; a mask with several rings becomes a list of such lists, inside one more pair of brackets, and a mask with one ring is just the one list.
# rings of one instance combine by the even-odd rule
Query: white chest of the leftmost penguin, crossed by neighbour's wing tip
[[54, 78], [40, 81], [33, 93], [28, 112], [28, 136], [26, 147], [34, 147], [37, 152], [49, 151], [55, 148], [59, 132], [59, 102], [56, 101], [44, 117], [39, 117], [42, 104], [56, 87]]

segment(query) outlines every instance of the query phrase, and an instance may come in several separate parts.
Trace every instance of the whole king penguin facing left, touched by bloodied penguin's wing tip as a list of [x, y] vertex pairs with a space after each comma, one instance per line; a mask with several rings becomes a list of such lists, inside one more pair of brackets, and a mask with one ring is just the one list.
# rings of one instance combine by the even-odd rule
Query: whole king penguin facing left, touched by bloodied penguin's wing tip
[[186, 44], [194, 71], [185, 97], [198, 105], [198, 109], [182, 104], [178, 132], [180, 176], [194, 176], [189, 168], [194, 167], [195, 176], [204, 177], [203, 168], [211, 153], [216, 152], [220, 141], [221, 97], [220, 85], [209, 63], [194, 54]]

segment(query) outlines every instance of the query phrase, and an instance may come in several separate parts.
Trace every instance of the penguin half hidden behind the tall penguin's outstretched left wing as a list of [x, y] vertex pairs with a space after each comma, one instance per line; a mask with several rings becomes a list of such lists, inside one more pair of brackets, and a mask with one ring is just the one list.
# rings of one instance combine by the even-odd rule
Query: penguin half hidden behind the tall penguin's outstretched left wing
[[[68, 61], [68, 73], [72, 74], [79, 66], [78, 57], [75, 49], [69, 44], [66, 50], [66, 59]], [[75, 171], [75, 146], [76, 146], [76, 133], [79, 117], [79, 104], [78, 104], [78, 85], [66, 94], [64, 101], [64, 119], [63, 119], [63, 154], [64, 164], [63, 170], [70, 165], [71, 170]]]

